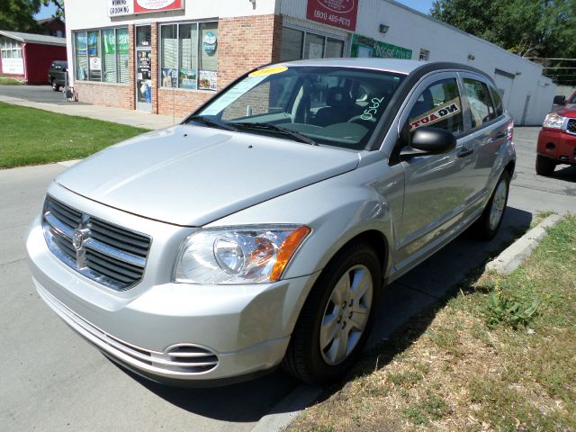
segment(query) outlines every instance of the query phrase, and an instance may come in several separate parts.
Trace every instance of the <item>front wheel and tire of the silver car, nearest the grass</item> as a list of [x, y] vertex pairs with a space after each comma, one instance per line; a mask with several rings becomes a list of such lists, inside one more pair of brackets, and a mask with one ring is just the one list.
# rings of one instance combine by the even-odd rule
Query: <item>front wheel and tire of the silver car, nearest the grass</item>
[[319, 385], [345, 374], [362, 354], [381, 284], [381, 264], [370, 245], [358, 242], [341, 250], [304, 303], [284, 370]]

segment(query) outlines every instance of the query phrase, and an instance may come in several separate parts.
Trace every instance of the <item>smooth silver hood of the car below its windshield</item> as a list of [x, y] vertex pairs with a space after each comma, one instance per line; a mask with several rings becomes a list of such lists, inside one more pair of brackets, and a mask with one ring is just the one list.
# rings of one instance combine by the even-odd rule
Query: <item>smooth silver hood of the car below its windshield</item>
[[356, 152], [344, 149], [177, 125], [106, 148], [56, 181], [122, 211], [202, 226], [358, 162]]

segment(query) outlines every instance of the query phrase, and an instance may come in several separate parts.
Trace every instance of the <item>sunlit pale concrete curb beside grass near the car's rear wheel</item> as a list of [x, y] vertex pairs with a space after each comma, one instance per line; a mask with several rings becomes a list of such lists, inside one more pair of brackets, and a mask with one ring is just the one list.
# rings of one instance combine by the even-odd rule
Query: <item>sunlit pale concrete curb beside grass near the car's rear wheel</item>
[[551, 228], [556, 222], [563, 218], [564, 216], [561, 214], [551, 214], [536, 225], [536, 227], [530, 229], [521, 238], [518, 238], [518, 240], [504, 249], [498, 257], [486, 265], [486, 269], [500, 273], [500, 275], [511, 274], [527, 257], [532, 255], [538, 243], [545, 237], [546, 229]]

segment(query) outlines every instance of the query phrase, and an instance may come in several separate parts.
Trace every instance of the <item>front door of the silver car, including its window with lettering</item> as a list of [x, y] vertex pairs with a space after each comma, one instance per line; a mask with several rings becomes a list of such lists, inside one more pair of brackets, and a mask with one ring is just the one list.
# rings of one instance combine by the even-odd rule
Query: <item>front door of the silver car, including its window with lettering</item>
[[[428, 76], [410, 97], [401, 114], [400, 128], [410, 136], [421, 127], [455, 134], [454, 150], [440, 155], [402, 160], [405, 192], [400, 224], [396, 229], [396, 266], [410, 267], [442, 246], [457, 225], [469, 217], [475, 192], [468, 178], [473, 148], [465, 136], [462, 85], [456, 72]], [[409, 131], [407, 131], [407, 129]]]

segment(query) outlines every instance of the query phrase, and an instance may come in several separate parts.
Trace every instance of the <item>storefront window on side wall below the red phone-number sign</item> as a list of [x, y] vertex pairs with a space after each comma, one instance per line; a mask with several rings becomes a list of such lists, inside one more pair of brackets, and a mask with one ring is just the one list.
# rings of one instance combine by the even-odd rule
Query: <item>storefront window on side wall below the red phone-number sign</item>
[[344, 40], [328, 38], [310, 31], [283, 27], [280, 59], [333, 58], [344, 56]]

